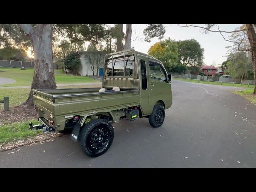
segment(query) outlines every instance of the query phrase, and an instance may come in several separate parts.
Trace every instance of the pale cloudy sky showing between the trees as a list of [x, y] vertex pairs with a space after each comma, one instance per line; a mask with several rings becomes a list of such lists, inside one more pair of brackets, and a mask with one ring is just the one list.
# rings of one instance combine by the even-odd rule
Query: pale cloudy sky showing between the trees
[[[185, 26], [185, 24], [180, 24]], [[204, 26], [204, 24], [195, 24], [198, 26]], [[242, 24], [218, 24], [220, 30], [232, 31], [239, 28]], [[209, 34], [204, 34], [203, 29], [195, 27], [178, 27], [177, 24], [164, 24], [166, 26], [166, 33], [164, 39], [170, 37], [174, 40], [186, 40], [186, 39], [196, 39], [202, 48], [204, 48], [204, 62], [206, 65], [218, 66], [223, 61], [226, 60], [226, 52], [228, 45], [232, 43], [227, 42], [223, 39], [220, 33], [210, 32]], [[123, 31], [126, 32], [126, 24], [123, 25]], [[143, 30], [146, 24], [132, 24], [132, 40], [144, 38]], [[213, 28], [218, 30], [217, 28]], [[230, 34], [223, 34], [225, 38], [228, 38]], [[139, 40], [132, 41], [131, 46], [139, 52], [147, 53], [150, 46], [158, 42], [158, 38], [153, 38], [150, 43], [141, 42]]]

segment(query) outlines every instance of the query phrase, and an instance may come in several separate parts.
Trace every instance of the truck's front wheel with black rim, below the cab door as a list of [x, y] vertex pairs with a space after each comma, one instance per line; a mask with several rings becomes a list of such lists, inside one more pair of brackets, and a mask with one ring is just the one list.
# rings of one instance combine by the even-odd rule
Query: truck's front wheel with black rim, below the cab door
[[148, 117], [149, 124], [154, 127], [160, 127], [164, 122], [164, 107], [161, 105], [155, 105], [152, 114]]

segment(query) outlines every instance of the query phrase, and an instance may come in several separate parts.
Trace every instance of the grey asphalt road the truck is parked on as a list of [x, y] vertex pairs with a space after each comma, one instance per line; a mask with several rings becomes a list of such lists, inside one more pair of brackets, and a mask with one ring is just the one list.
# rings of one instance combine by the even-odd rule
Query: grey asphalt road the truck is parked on
[[0, 167], [256, 167], [256, 106], [229, 92], [240, 88], [172, 84], [173, 105], [164, 124], [151, 128], [147, 118], [113, 124], [114, 142], [102, 156], [87, 157], [66, 135], [16, 153], [1, 152]]

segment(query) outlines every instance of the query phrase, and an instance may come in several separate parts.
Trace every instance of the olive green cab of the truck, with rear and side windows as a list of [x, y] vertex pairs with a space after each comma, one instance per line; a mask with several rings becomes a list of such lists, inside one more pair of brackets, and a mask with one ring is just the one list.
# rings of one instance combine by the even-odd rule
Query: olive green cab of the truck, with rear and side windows
[[171, 75], [156, 58], [132, 49], [107, 54], [104, 66], [103, 87], [140, 90], [142, 116], [150, 115], [156, 104], [172, 106]]

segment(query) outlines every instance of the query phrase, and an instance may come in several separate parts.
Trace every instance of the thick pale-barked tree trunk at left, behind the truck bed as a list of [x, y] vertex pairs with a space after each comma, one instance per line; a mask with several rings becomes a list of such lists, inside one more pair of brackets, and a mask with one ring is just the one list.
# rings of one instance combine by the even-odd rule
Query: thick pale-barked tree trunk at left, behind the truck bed
[[56, 88], [54, 67], [52, 64], [52, 26], [38, 24], [33, 28], [30, 24], [20, 24], [29, 37], [35, 58], [34, 77], [28, 99], [24, 104], [32, 105], [32, 89]]

